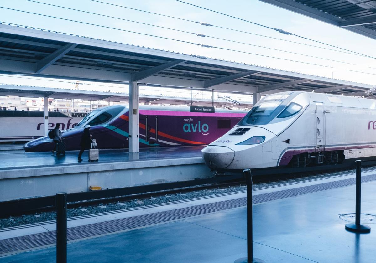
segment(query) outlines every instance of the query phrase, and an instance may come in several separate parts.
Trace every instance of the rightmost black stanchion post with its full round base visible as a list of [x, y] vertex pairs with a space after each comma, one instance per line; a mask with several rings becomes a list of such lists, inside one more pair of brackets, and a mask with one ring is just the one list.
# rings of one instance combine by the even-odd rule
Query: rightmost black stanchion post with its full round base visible
[[346, 230], [356, 233], [370, 233], [371, 228], [368, 225], [360, 224], [360, 202], [361, 202], [361, 183], [362, 183], [362, 161], [356, 160], [356, 193], [355, 193], [355, 224], [346, 224]]

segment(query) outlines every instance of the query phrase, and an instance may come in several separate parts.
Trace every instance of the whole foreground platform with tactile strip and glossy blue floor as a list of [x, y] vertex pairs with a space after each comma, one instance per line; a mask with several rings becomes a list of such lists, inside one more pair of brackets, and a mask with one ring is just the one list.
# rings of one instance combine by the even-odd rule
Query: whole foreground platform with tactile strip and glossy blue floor
[[[362, 213], [376, 211], [376, 172], [362, 174]], [[265, 262], [374, 262], [376, 229], [345, 230], [355, 174], [253, 191], [253, 253]], [[345, 220], [343, 220], [345, 219]], [[354, 219], [355, 220], [355, 219]], [[246, 257], [246, 193], [68, 221], [68, 262], [234, 262]], [[0, 263], [55, 261], [55, 222], [0, 231]]]

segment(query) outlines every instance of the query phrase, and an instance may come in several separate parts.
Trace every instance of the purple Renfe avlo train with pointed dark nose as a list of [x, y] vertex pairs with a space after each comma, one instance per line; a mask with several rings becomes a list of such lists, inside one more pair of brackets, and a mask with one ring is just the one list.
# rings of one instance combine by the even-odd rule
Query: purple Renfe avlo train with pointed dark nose
[[[141, 106], [139, 109], [140, 147], [206, 145], [222, 136], [246, 112], [216, 109], [215, 113], [189, 112], [182, 107]], [[73, 128], [62, 131], [67, 150], [79, 150], [86, 124], [98, 148], [128, 148], [129, 110], [114, 105], [94, 110]], [[44, 136], [24, 145], [26, 152], [50, 151], [52, 139]]]

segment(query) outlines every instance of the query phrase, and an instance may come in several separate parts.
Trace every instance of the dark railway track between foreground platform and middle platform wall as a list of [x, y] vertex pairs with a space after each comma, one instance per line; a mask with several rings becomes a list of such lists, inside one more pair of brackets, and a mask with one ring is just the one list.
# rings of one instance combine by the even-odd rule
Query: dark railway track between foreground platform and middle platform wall
[[[363, 164], [363, 169], [368, 169], [368, 166], [376, 165], [376, 161], [367, 161]], [[355, 169], [351, 169], [353, 167], [354, 165], [344, 164], [337, 165], [335, 167], [318, 166], [305, 169], [287, 168], [270, 169], [268, 171], [263, 170], [261, 172], [253, 171], [253, 184], [256, 188], [259, 188], [262, 187], [264, 184], [270, 182], [273, 182], [275, 185], [286, 183], [286, 181], [288, 181], [289, 183], [293, 182], [294, 180], [302, 181], [302, 178], [304, 178], [304, 180], [314, 179], [317, 178], [317, 175], [321, 175], [322, 173], [326, 173], [326, 176], [328, 176], [327, 174], [331, 172], [337, 172], [337, 175], [338, 172], [351, 174], [352, 172], [355, 172]], [[267, 172], [269, 172], [268, 176], [265, 176]], [[333, 174], [333, 176], [334, 175], [336, 174]], [[324, 175], [322, 175], [321, 177], [324, 177]], [[239, 172], [233, 175], [221, 175], [215, 178], [182, 181], [175, 183], [163, 183], [146, 186], [98, 190], [91, 192], [70, 193], [67, 196], [67, 206], [68, 208], [95, 206], [100, 203], [129, 201], [134, 199], [143, 200], [148, 199], [152, 196], [158, 197], [174, 193], [185, 193], [203, 189], [226, 188], [229, 186], [238, 186], [244, 184], [245, 181], [243, 175], [241, 174], [241, 172]], [[37, 198], [5, 201], [0, 202], [0, 211], [2, 211], [0, 218], [7, 218], [9, 216], [29, 215], [37, 212], [50, 212], [54, 211], [55, 209], [55, 196], [43, 196]]]

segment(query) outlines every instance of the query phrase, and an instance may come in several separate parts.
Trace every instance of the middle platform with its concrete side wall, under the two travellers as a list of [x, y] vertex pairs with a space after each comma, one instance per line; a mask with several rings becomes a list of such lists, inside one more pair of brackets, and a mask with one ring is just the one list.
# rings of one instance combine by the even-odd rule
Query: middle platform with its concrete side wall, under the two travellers
[[77, 162], [78, 151], [64, 156], [42, 153], [0, 154], [0, 201], [86, 192], [90, 186], [120, 188], [208, 178], [203, 146], [100, 150], [98, 162]]

